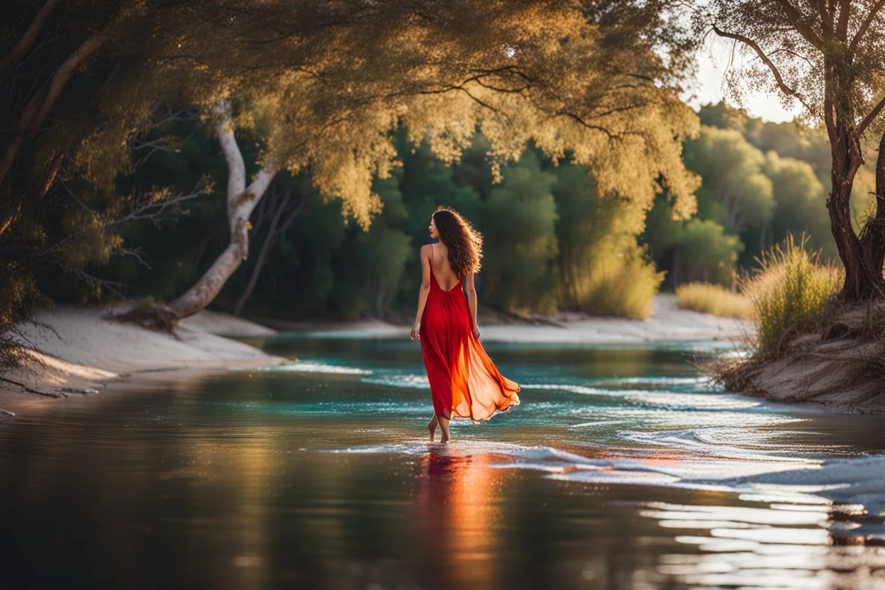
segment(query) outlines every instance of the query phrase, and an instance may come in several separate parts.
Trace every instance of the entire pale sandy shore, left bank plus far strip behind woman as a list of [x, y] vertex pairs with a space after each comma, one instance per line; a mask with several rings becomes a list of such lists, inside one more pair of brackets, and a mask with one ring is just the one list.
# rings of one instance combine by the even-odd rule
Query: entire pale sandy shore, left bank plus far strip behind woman
[[[0, 381], [0, 410], [15, 412], [54, 396], [83, 395], [78, 390], [100, 390], [112, 382], [115, 387], [130, 382], [137, 386], [139, 381], [186, 379], [188, 373], [221, 367], [288, 362], [225, 337], [260, 339], [277, 333], [227, 313], [204, 311], [181, 322], [172, 334], [119, 323], [107, 315], [100, 309], [59, 307], [35, 317], [47, 327], [23, 326], [24, 343], [33, 349], [34, 361]], [[409, 333], [409, 326], [380, 320], [276, 326], [342, 338], [408, 338]], [[528, 320], [481, 317], [480, 326], [483, 341], [586, 344], [737, 341], [751, 330], [740, 320], [680, 310], [674, 295], [656, 296], [654, 313], [645, 320], [566, 313]], [[0, 421], [4, 416], [0, 412]]]

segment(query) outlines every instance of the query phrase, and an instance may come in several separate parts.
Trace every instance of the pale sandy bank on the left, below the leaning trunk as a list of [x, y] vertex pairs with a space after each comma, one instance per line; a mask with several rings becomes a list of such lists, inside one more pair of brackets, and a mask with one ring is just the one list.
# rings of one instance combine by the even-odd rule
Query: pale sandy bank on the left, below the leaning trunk
[[[96, 308], [43, 310], [35, 320], [37, 325], [22, 326], [22, 343], [32, 349], [33, 360], [0, 381], [0, 410], [16, 413], [52, 397], [84, 395], [154, 373], [288, 362], [226, 338], [266, 338], [276, 332], [225, 313], [204, 311], [173, 333], [113, 321]], [[8, 416], [0, 413], [0, 419]]]

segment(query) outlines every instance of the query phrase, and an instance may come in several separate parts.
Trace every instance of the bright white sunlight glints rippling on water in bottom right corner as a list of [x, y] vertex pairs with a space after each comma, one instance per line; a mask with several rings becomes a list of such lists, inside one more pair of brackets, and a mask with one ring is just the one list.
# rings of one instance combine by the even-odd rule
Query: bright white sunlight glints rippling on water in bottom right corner
[[[885, 587], [885, 552], [833, 533], [843, 517], [828, 503], [676, 505], [645, 502], [639, 514], [673, 529], [685, 553], [667, 553], [656, 571], [689, 586], [753, 588]], [[850, 529], [856, 525], [848, 525]], [[852, 544], [858, 546], [852, 547]]]

